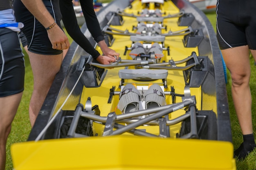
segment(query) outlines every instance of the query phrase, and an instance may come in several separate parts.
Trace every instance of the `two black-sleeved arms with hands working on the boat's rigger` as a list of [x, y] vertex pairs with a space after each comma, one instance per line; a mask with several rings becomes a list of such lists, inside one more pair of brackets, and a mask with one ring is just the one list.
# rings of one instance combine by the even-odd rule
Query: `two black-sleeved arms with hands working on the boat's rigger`
[[65, 29], [67, 30], [67, 33], [77, 44], [79, 44], [79, 46], [81, 46], [86, 52], [92, 55], [92, 57], [99, 63], [109, 64], [111, 62], [115, 62], [116, 58], [114, 56], [116, 56], [118, 59], [119, 53], [115, 52], [107, 46], [99, 26], [99, 21], [94, 12], [92, 0], [80, 0], [80, 4], [86, 25], [92, 34], [92, 37], [100, 46], [103, 55], [94, 49], [89, 40], [81, 32], [76, 20], [72, 0], [60, 0], [62, 21]]

